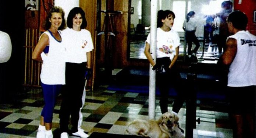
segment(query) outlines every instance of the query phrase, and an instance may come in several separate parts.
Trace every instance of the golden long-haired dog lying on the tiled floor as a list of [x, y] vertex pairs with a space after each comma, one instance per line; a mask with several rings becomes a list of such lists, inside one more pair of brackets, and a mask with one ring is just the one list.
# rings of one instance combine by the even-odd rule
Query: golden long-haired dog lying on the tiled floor
[[185, 138], [184, 130], [179, 128], [179, 117], [166, 112], [159, 120], [134, 120], [125, 134], [150, 138]]

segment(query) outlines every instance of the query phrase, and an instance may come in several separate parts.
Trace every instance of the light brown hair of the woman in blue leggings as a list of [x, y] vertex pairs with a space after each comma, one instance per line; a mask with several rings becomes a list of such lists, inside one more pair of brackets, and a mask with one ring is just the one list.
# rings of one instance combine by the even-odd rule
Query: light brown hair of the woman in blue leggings
[[48, 12], [45, 23], [44, 23], [44, 29], [45, 30], [50, 29], [51, 22], [49, 20], [50, 20], [51, 16], [53, 15], [53, 12], [61, 13], [62, 22], [61, 22], [61, 25], [58, 28], [58, 30], [65, 29], [66, 28], [66, 21], [65, 21], [65, 18], [64, 18], [65, 12], [61, 7], [58, 7], [58, 6], [55, 6], [55, 7], [51, 8], [51, 10]]

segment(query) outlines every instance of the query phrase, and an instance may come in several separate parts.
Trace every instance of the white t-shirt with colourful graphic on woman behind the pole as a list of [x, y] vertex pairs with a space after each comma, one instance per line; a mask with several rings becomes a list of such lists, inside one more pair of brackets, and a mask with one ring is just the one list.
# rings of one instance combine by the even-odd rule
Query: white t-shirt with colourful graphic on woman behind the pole
[[[147, 36], [147, 43], [150, 44], [150, 33]], [[161, 28], [157, 28], [156, 33], [156, 57], [163, 58], [169, 57], [171, 60], [176, 54], [176, 48], [180, 45], [179, 34], [171, 29], [164, 32]]]

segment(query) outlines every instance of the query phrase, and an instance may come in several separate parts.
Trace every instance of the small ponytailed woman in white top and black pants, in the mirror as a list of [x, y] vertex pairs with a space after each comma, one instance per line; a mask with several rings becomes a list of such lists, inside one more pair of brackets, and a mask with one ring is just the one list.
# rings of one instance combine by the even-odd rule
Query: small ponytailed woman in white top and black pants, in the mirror
[[[196, 55], [198, 48], [200, 47], [199, 41], [196, 37], [196, 20], [195, 20], [195, 12], [190, 11], [186, 15], [186, 20], [183, 23], [183, 30], [185, 31], [186, 43], [188, 43], [188, 57], [191, 55]], [[196, 45], [196, 47], [191, 51], [192, 42]]]

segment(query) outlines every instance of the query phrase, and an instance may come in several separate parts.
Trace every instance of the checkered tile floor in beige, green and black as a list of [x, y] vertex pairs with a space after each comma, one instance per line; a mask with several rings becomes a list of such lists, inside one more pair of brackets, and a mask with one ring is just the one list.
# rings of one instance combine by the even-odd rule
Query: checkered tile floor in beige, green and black
[[[173, 99], [169, 99], [171, 110]], [[16, 98], [15, 104], [0, 105], [0, 138], [35, 138], [39, 125], [43, 97], [40, 88], [29, 90]], [[223, 112], [221, 102], [198, 100], [197, 118], [201, 123], [193, 130], [194, 138], [232, 138], [228, 114]], [[54, 138], [59, 137], [60, 97], [53, 115]], [[100, 86], [86, 93], [82, 110], [82, 128], [89, 135], [92, 132], [124, 134], [128, 124], [134, 119], [148, 119], [148, 95], [134, 92], [109, 91]], [[156, 97], [156, 119], [161, 115], [159, 100]], [[186, 109], [178, 113], [181, 128], [185, 130]], [[186, 130], [185, 130], [186, 131]], [[70, 138], [78, 138], [70, 136]]]

